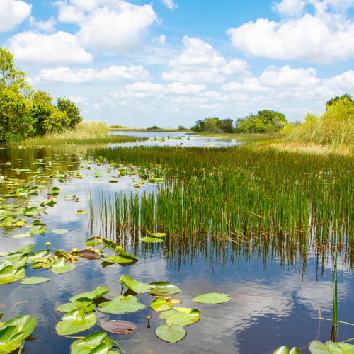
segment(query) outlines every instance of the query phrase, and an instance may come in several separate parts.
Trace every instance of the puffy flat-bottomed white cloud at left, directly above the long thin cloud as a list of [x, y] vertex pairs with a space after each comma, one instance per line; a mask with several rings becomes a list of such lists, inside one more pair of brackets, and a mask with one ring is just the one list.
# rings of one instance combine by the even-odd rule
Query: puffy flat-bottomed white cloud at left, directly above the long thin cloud
[[29, 64], [89, 63], [93, 56], [79, 47], [74, 35], [59, 31], [53, 35], [25, 31], [8, 40], [16, 59]]

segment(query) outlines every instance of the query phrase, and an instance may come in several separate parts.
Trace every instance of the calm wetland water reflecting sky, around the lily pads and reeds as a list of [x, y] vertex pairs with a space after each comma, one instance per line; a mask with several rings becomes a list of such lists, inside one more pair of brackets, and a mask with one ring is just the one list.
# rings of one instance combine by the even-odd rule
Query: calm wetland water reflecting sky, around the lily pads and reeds
[[[128, 132], [122, 132], [128, 135]], [[129, 135], [156, 137], [166, 140], [166, 132], [130, 132]], [[171, 134], [178, 136], [178, 134]], [[220, 142], [218, 139], [191, 137], [181, 135], [183, 140], [170, 139], [167, 142], [139, 142], [139, 145], [149, 144], [181, 144], [184, 146], [215, 147], [237, 144], [235, 141]], [[120, 144], [120, 147], [132, 146], [134, 143]], [[112, 147], [113, 145], [111, 145]], [[100, 145], [102, 147], [102, 145]], [[59, 187], [62, 191], [55, 200], [57, 204], [47, 207], [45, 212], [34, 217], [23, 217], [27, 224], [40, 219], [46, 225], [46, 232], [30, 237], [13, 238], [25, 234], [24, 227], [1, 227], [0, 251], [14, 252], [23, 246], [35, 244], [33, 251], [54, 247], [62, 251], [71, 251], [74, 247], [85, 249], [84, 242], [92, 234], [98, 235], [102, 225], [89, 222], [89, 198], [91, 191], [94, 207], [104, 191], [113, 195], [120, 190], [127, 193], [137, 191], [130, 182], [134, 176], [122, 176], [119, 183], [109, 180], [117, 174], [115, 168], [108, 172], [103, 164], [89, 164], [81, 158], [79, 152], [94, 149], [95, 146], [68, 147], [6, 147], [0, 149], [0, 176], [16, 177], [24, 180], [21, 185], [43, 185], [38, 195], [29, 198], [6, 198], [2, 204], [18, 204], [27, 207], [40, 207], [40, 201], [45, 200], [47, 190]], [[11, 164], [5, 164], [5, 163]], [[86, 163], [85, 163], [86, 162]], [[81, 167], [84, 166], [84, 169]], [[90, 167], [91, 169], [86, 169]], [[17, 169], [17, 170], [16, 170]], [[20, 170], [25, 171], [20, 171]], [[82, 179], [75, 178], [79, 171]], [[67, 173], [67, 178], [47, 178], [52, 173], [57, 175]], [[70, 176], [69, 172], [72, 174]], [[106, 176], [95, 178], [94, 173]], [[45, 186], [45, 187], [44, 187]], [[11, 190], [16, 190], [14, 185]], [[142, 186], [139, 193], [151, 192], [156, 183]], [[10, 191], [11, 191], [10, 190]], [[4, 186], [0, 189], [0, 198], [9, 193]], [[67, 195], [76, 195], [76, 200], [66, 200]], [[86, 213], [76, 214], [77, 210]], [[67, 229], [65, 234], [55, 234], [52, 230]], [[129, 230], [126, 232], [129, 234]], [[116, 241], [115, 234], [108, 234]], [[160, 244], [142, 244], [135, 237], [125, 236], [124, 246], [127, 252], [139, 257], [139, 261], [129, 266], [105, 263], [101, 260], [79, 258], [76, 268], [69, 273], [54, 274], [49, 269], [25, 270], [26, 277], [42, 276], [50, 278], [49, 282], [38, 285], [21, 285], [19, 282], [0, 285], [0, 312], [4, 313], [2, 322], [30, 314], [37, 319], [33, 331], [35, 341], [25, 343], [25, 353], [69, 353], [69, 346], [76, 339], [59, 336], [55, 326], [60, 321], [63, 312], [55, 309], [69, 302], [69, 298], [95, 290], [97, 287], [108, 286], [110, 293], [105, 295], [112, 299], [120, 295], [122, 287], [118, 282], [120, 275], [130, 275], [139, 282], [167, 281], [183, 290], [173, 295], [182, 300], [181, 307], [198, 308], [200, 321], [186, 326], [187, 336], [175, 344], [166, 343], [156, 337], [154, 329], [164, 324], [159, 319], [160, 312], [154, 312], [150, 307], [153, 296], [138, 294], [139, 302], [147, 307], [142, 311], [130, 314], [105, 314], [95, 312], [98, 322], [91, 329], [73, 336], [88, 336], [89, 333], [101, 331], [98, 325], [101, 321], [124, 319], [137, 324], [137, 330], [130, 336], [109, 334], [118, 341], [125, 353], [273, 353], [276, 348], [287, 345], [297, 346], [302, 353], [309, 353], [307, 345], [314, 339], [322, 342], [329, 340], [331, 321], [319, 320], [321, 316], [331, 318], [332, 310], [332, 267], [331, 261], [324, 260], [323, 265], [314, 251], [306, 251], [294, 261], [285, 261], [284, 253], [276, 252], [274, 244], [268, 247], [258, 247], [235, 251], [232, 246], [225, 246], [217, 239], [207, 242], [190, 241], [188, 237], [181, 238], [181, 243], [173, 244], [166, 236]], [[290, 250], [291, 251], [291, 250]], [[113, 252], [111, 252], [113, 253]], [[302, 259], [301, 262], [297, 261]], [[338, 261], [338, 320], [353, 323], [354, 318], [354, 282], [352, 272], [347, 265]], [[126, 293], [125, 293], [126, 292]], [[232, 297], [231, 302], [224, 304], [196, 304], [193, 297], [208, 292], [222, 292]], [[125, 295], [134, 294], [124, 290]], [[147, 316], [151, 316], [150, 328], [147, 326]], [[338, 341], [354, 337], [354, 327], [338, 326]], [[350, 342], [352, 343], [352, 342]]]

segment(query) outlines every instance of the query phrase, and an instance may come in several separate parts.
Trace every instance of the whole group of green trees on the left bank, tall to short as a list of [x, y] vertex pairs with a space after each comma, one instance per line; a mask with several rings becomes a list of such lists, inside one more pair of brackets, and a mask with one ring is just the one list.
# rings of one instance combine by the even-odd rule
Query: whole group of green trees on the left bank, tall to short
[[0, 143], [74, 128], [84, 118], [69, 98], [35, 90], [25, 72], [13, 64], [13, 54], [0, 47]]

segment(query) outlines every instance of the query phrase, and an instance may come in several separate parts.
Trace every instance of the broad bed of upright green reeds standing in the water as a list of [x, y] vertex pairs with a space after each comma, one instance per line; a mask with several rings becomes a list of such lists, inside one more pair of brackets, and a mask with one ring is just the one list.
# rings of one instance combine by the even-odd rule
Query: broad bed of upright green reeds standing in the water
[[309, 244], [353, 245], [350, 157], [252, 147], [108, 148], [91, 154], [132, 164], [137, 175], [165, 178], [152, 193], [101, 195], [91, 215], [108, 225], [105, 232], [161, 229], [173, 237], [226, 235], [239, 244], [245, 237], [251, 244], [257, 242], [253, 237], [285, 237], [304, 241], [304, 252]]

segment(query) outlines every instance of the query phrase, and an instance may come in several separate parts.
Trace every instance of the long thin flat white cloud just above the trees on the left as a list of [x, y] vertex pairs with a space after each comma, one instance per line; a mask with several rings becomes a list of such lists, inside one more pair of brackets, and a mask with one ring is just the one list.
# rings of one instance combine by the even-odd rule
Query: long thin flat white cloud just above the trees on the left
[[42, 69], [34, 77], [33, 82], [45, 84], [82, 84], [93, 81], [117, 82], [122, 80], [149, 80], [149, 72], [142, 65], [137, 67], [113, 66], [101, 72], [96, 69], [69, 69], [57, 67], [56, 69]]

